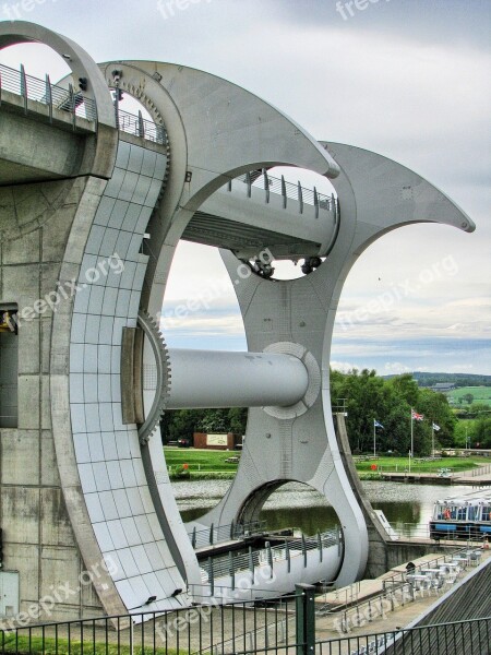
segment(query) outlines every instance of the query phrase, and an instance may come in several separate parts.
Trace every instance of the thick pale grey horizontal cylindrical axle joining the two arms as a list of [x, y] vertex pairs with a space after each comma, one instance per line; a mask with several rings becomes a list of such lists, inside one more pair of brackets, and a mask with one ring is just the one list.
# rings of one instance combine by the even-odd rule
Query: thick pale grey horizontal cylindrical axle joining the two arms
[[309, 376], [291, 355], [170, 349], [168, 409], [287, 407], [300, 401]]

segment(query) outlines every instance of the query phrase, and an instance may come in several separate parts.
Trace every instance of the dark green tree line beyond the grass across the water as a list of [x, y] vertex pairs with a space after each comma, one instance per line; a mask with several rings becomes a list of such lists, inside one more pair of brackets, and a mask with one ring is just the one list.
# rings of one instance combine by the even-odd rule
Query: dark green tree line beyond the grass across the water
[[[334, 407], [345, 405], [348, 437], [354, 453], [373, 452], [374, 420], [376, 452], [407, 454], [410, 450], [411, 408], [424, 419], [414, 420], [415, 456], [431, 454], [432, 425], [435, 448], [454, 445], [457, 419], [444, 394], [418, 386], [411, 373], [384, 379], [374, 370], [331, 371], [331, 398]], [[480, 419], [481, 448], [491, 448], [491, 417]], [[479, 422], [479, 421], [476, 421]], [[233, 432], [244, 434], [247, 408], [180, 409], [167, 412], [160, 424], [163, 442], [192, 439], [193, 432]]]

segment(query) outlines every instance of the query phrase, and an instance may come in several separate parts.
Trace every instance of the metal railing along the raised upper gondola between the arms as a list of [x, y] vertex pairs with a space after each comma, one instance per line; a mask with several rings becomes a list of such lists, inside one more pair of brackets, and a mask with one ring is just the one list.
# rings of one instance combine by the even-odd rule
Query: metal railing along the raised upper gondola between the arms
[[302, 187], [300, 182], [297, 182], [297, 184], [287, 182], [285, 176], [276, 178], [270, 175], [265, 168], [246, 172], [246, 175], [230, 179], [227, 184], [228, 191], [232, 190], [235, 181], [246, 184], [246, 191], [249, 198], [251, 198], [252, 188], [262, 189], [264, 191], [266, 203], [270, 202], [270, 193], [274, 193], [275, 195], [283, 196], [284, 209], [288, 206], [288, 200], [295, 200], [298, 203], [300, 214], [303, 213], [303, 205], [308, 204], [314, 207], [316, 218], [319, 217], [321, 210], [332, 212], [335, 214], [335, 218], [338, 218], [339, 204], [334, 193], [326, 195], [325, 193], [320, 193], [315, 187], [313, 189], [307, 189], [306, 187]]

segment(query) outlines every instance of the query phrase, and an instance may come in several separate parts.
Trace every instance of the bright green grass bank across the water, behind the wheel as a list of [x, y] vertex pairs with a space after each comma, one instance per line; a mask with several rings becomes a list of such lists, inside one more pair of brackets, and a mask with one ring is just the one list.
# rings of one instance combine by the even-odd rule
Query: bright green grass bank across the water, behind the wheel
[[[228, 457], [240, 457], [240, 451], [211, 451], [194, 450], [192, 448], [169, 448], [164, 449], [167, 466], [170, 467], [170, 474], [176, 477], [199, 477], [206, 473], [223, 474], [224, 477], [231, 477], [237, 471], [237, 464], [228, 463]], [[452, 472], [468, 471], [479, 464], [489, 464], [489, 457], [443, 457], [442, 460], [432, 460], [418, 462], [418, 458], [411, 461], [411, 471], [415, 473], [438, 473], [439, 468], [451, 468]], [[183, 465], [188, 465], [183, 468]], [[378, 457], [376, 460], [364, 460], [357, 462], [357, 471], [360, 473], [373, 473], [372, 466], [390, 472], [404, 472], [408, 467], [407, 457]], [[184, 473], [185, 472], [185, 473]], [[376, 473], [375, 472], [375, 473]]]

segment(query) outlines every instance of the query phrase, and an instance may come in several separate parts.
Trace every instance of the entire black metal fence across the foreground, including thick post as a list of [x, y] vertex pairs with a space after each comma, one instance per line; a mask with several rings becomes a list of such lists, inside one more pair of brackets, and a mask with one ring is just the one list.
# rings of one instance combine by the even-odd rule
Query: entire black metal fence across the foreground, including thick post
[[197, 605], [0, 630], [25, 655], [489, 655], [491, 618], [320, 641], [314, 587], [263, 603]]

